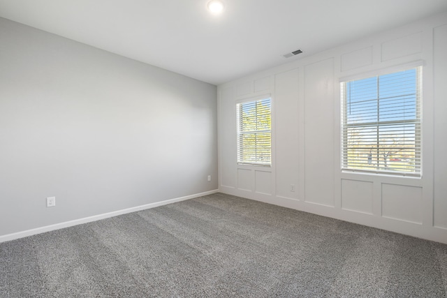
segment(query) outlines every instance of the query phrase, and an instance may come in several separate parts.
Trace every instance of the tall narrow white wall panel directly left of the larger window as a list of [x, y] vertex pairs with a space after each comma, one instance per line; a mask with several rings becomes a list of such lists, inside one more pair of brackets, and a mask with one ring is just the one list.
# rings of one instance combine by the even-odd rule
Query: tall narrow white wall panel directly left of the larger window
[[305, 201], [334, 206], [334, 59], [305, 66]]

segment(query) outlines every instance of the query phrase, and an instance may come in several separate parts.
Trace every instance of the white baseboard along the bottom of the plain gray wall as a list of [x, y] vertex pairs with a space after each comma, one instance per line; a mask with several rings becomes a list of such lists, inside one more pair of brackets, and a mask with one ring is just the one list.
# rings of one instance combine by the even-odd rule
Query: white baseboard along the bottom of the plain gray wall
[[214, 190], [214, 191], [205, 191], [205, 193], [196, 193], [196, 194], [193, 194], [193, 195], [186, 195], [186, 196], [181, 197], [181, 198], [174, 198], [174, 199], [170, 199], [170, 200], [164, 200], [164, 201], [161, 201], [161, 202], [154, 202], [154, 203], [145, 204], [145, 205], [141, 205], [141, 206], [137, 206], [137, 207], [131, 207], [131, 208], [128, 208], [128, 209], [122, 209], [122, 210], [112, 211], [112, 212], [108, 212], [108, 213], [104, 213], [104, 214], [98, 214], [98, 215], [95, 215], [95, 216], [79, 218], [79, 219], [75, 219], [74, 221], [65, 221], [64, 223], [56, 223], [54, 225], [45, 225], [45, 227], [41, 227], [41, 228], [25, 230], [25, 231], [22, 231], [22, 232], [15, 232], [15, 233], [12, 233], [12, 234], [6, 234], [6, 235], [3, 235], [3, 236], [0, 236], [0, 243], [1, 242], [15, 240], [15, 239], [19, 239], [19, 238], [23, 238], [23, 237], [32, 236], [32, 235], [35, 235], [35, 234], [41, 234], [41, 233], [44, 233], [44, 232], [50, 232], [52, 230], [59, 230], [59, 229], [63, 229], [63, 228], [68, 228], [68, 227], [72, 227], [73, 225], [81, 225], [82, 223], [90, 223], [91, 221], [99, 221], [100, 219], [104, 219], [104, 218], [109, 218], [109, 217], [113, 217], [113, 216], [119, 216], [119, 215], [122, 215], [122, 214], [128, 214], [128, 213], [135, 212], [135, 211], [151, 209], [151, 208], [163, 206], [163, 205], [166, 205], [166, 204], [172, 204], [172, 203], [175, 203], [175, 202], [180, 202], [180, 201], [184, 201], [184, 200], [198, 198], [198, 197], [202, 197], [204, 195], [212, 195], [213, 193], [218, 193], [218, 192], [219, 191], [217, 189]]

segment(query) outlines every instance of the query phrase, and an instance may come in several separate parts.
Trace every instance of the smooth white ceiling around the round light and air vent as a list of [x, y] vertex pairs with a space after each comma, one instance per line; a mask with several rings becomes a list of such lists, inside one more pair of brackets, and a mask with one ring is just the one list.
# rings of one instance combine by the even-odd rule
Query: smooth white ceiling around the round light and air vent
[[221, 84], [447, 10], [447, 0], [223, 0], [215, 16], [207, 1], [0, 0], [0, 17]]

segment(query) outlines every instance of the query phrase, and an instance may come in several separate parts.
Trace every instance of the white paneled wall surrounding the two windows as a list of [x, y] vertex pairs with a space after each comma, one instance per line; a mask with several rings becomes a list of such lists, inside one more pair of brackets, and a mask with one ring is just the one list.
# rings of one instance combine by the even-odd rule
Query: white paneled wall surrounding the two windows
[[[219, 190], [447, 244], [446, 53], [443, 13], [218, 86]], [[341, 172], [340, 78], [415, 61], [423, 177]], [[239, 166], [235, 101], [259, 95], [272, 96], [273, 164]]]

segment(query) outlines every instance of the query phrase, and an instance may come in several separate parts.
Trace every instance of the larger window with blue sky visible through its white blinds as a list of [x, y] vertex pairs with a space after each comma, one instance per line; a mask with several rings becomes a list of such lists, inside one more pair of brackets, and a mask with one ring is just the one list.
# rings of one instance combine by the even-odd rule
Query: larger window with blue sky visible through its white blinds
[[420, 177], [421, 73], [341, 83], [342, 170]]

